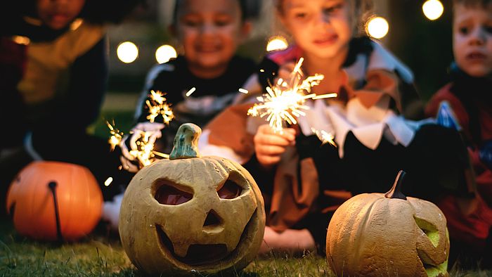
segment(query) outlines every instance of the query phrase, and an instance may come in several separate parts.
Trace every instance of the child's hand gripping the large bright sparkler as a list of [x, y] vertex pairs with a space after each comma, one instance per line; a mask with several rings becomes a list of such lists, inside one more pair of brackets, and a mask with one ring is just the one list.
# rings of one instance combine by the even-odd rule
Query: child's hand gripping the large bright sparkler
[[254, 135], [254, 150], [260, 165], [268, 169], [278, 163], [285, 148], [295, 144], [295, 134], [292, 128], [283, 129], [283, 134], [279, 134], [268, 124], [261, 125]]

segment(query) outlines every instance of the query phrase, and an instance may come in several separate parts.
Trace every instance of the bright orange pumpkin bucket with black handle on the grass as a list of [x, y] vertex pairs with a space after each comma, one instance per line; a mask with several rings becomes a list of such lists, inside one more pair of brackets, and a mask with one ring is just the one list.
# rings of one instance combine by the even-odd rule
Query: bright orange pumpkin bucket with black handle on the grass
[[89, 169], [65, 162], [27, 165], [7, 193], [15, 229], [35, 240], [73, 241], [101, 219], [103, 193]]

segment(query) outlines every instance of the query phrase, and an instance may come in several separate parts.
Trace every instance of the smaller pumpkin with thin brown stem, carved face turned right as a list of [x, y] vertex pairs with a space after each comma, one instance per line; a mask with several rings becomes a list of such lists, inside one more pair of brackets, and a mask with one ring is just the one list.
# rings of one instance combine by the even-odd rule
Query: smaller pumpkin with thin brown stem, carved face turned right
[[446, 218], [399, 192], [403, 175], [388, 193], [356, 195], [333, 215], [326, 255], [337, 276], [448, 276]]

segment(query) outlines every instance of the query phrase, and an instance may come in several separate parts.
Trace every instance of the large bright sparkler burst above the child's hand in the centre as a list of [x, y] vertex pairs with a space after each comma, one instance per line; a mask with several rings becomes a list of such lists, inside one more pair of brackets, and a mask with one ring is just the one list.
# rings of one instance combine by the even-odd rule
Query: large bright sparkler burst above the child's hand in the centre
[[314, 75], [303, 78], [301, 70], [303, 58], [295, 65], [291, 73], [290, 81], [278, 79], [275, 86], [266, 87], [266, 94], [257, 97], [260, 103], [254, 104], [247, 115], [265, 117], [273, 131], [283, 133], [285, 122], [297, 124], [296, 117], [306, 115], [302, 110], [308, 110], [304, 105], [307, 99], [322, 99], [336, 97], [337, 94], [313, 94], [311, 88], [320, 84], [323, 75]]

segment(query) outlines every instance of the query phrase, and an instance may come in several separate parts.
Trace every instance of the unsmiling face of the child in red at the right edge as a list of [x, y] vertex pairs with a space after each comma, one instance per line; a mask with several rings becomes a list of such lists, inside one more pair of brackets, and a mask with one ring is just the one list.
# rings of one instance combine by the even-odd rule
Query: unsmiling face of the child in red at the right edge
[[492, 75], [492, 5], [455, 6], [453, 52], [461, 70], [472, 77]]

